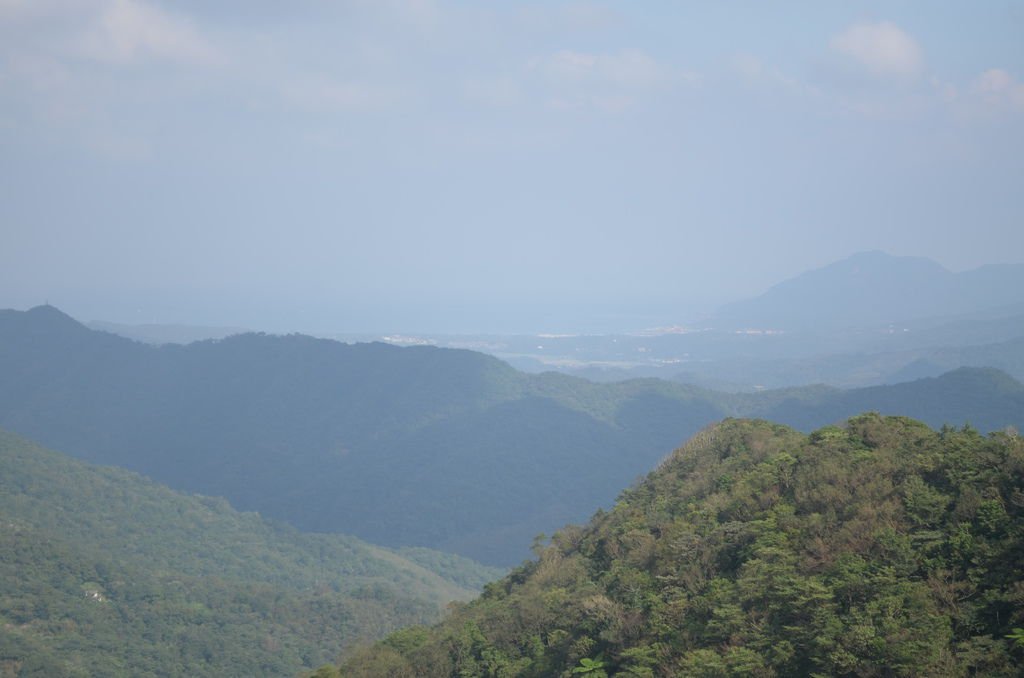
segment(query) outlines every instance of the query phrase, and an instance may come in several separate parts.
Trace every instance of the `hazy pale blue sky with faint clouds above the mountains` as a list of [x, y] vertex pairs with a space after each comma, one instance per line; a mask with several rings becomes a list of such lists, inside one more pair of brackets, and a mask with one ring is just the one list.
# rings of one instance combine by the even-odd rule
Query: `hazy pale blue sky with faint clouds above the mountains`
[[0, 0], [0, 307], [636, 329], [1022, 217], [1020, 2]]

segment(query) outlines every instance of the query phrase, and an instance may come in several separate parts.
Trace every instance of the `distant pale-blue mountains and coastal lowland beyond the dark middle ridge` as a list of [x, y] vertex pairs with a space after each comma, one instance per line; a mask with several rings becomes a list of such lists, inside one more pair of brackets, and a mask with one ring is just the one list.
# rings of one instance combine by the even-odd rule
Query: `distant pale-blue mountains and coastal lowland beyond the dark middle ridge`
[[[156, 344], [243, 331], [90, 327]], [[1024, 379], [1024, 266], [954, 273], [928, 259], [863, 252], [710, 316], [629, 334], [317, 336], [470, 348], [527, 372], [555, 370], [595, 381], [659, 377], [726, 390], [870, 386], [966, 366], [996, 367]]]

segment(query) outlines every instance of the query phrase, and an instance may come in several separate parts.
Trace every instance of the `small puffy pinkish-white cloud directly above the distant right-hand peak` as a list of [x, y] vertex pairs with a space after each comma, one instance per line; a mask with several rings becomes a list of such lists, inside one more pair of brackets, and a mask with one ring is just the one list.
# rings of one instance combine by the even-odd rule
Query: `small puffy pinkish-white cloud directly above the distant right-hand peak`
[[924, 68], [918, 42], [888, 22], [855, 24], [834, 37], [829, 47], [880, 76], [909, 77]]

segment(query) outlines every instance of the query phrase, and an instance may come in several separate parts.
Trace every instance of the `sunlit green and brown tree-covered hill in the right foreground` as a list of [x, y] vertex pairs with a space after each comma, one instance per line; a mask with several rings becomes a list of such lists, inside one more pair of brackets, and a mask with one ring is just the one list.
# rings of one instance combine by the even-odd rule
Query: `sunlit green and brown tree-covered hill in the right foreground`
[[728, 420], [537, 550], [341, 675], [1015, 676], [1024, 662], [1013, 432]]

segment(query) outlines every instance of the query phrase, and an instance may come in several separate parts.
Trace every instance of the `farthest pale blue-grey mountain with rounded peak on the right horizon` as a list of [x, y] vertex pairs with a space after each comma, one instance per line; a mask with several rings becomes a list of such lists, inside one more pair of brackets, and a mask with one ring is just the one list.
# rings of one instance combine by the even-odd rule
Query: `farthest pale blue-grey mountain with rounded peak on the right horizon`
[[953, 273], [930, 259], [861, 252], [728, 304], [716, 324], [865, 328], [1024, 302], [1024, 264]]

